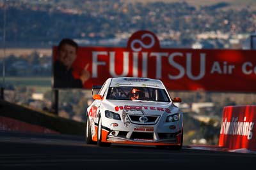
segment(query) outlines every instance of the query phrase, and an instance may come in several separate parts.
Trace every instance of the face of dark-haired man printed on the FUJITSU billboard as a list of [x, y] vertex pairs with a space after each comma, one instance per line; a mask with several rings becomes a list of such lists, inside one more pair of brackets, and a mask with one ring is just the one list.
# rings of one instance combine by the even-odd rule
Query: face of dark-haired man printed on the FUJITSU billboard
[[72, 63], [76, 59], [76, 47], [68, 44], [64, 44], [60, 48], [59, 60], [70, 69]]

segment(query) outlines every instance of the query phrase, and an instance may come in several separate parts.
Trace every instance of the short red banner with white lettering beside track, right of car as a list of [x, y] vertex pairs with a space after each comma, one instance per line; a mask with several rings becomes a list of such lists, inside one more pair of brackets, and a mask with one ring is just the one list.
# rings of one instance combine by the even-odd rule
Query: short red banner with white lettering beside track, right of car
[[256, 106], [227, 106], [223, 120], [219, 146], [236, 150], [246, 148], [256, 151]]

